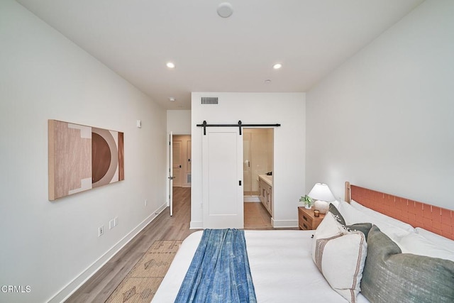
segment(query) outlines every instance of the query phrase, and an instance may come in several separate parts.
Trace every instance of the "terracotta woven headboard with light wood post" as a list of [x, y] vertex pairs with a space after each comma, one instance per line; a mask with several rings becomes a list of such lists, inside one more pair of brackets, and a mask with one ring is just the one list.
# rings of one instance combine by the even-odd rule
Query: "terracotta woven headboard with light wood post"
[[443, 209], [345, 182], [345, 201], [350, 203], [352, 199], [411, 226], [421, 227], [454, 240], [454, 211], [450, 209]]

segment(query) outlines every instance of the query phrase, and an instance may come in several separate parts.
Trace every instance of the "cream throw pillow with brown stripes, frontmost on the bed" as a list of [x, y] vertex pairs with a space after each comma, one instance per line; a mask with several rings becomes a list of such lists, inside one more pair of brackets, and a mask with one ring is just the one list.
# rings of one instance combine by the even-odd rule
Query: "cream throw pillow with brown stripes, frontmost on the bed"
[[312, 259], [329, 285], [348, 302], [360, 292], [367, 242], [361, 231], [346, 231], [328, 212], [316, 229]]

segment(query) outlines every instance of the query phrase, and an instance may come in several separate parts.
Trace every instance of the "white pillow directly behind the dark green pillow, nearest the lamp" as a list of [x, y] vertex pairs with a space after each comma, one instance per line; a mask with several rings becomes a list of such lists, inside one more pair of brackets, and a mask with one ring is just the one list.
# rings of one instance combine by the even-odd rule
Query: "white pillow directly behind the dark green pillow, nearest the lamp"
[[[339, 203], [339, 212], [341, 212], [343, 218], [345, 219], [345, 223], [347, 225], [355, 224], [355, 223], [372, 223], [380, 228], [380, 231], [385, 233], [392, 241], [399, 243], [400, 239], [413, 231], [409, 231], [409, 228], [402, 228], [398, 226], [398, 224], [393, 224], [387, 220], [383, 220], [382, 218], [377, 218], [376, 216], [372, 216], [370, 214], [366, 214], [364, 211], [360, 211], [355, 209], [355, 207], [351, 206], [347, 202]], [[405, 224], [402, 222], [402, 224]], [[411, 225], [409, 225], [411, 226]]]

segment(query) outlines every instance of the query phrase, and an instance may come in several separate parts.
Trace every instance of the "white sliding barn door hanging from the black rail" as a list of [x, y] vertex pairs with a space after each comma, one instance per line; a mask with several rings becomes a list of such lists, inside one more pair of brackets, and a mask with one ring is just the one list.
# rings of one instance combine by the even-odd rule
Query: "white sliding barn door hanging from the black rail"
[[238, 127], [202, 136], [204, 228], [243, 228], [243, 137]]

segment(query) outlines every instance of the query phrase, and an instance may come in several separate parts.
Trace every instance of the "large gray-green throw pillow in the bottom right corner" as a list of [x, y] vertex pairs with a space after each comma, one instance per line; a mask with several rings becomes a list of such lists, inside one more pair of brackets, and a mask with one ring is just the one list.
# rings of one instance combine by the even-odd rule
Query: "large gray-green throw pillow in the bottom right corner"
[[361, 293], [370, 302], [454, 302], [454, 262], [402, 253], [372, 226]]

